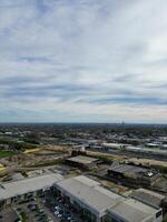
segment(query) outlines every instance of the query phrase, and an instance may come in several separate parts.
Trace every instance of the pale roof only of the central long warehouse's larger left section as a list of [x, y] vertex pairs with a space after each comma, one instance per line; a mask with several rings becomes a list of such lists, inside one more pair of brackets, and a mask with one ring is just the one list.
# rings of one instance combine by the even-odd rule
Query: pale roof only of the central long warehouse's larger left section
[[98, 182], [84, 175], [62, 180], [56, 186], [99, 214], [122, 199], [120, 195], [110, 192], [100, 186]]

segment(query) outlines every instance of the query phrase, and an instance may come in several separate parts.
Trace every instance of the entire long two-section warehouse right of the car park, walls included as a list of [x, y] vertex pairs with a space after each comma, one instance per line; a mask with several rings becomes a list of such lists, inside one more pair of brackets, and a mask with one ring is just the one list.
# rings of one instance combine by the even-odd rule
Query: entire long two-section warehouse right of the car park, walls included
[[[55, 189], [86, 218], [86, 221], [161, 222], [163, 220], [161, 209], [148, 206], [137, 200], [126, 199], [84, 175], [57, 182]], [[135, 213], [141, 214], [137, 221], [131, 220], [135, 218]]]

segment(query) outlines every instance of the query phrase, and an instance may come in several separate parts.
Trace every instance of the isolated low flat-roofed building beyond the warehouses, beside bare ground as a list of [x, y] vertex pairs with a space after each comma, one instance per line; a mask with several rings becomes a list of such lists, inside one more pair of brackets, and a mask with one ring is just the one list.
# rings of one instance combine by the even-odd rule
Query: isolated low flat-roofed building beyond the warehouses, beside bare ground
[[73, 158], [67, 159], [67, 163], [72, 167], [82, 168], [85, 170], [90, 170], [97, 167], [98, 159], [90, 158], [86, 155], [77, 155]]

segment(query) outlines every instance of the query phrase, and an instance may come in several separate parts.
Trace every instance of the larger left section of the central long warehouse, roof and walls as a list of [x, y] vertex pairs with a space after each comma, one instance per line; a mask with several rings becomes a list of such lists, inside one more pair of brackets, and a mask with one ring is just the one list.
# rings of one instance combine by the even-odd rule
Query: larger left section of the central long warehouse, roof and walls
[[82, 175], [60, 181], [56, 189], [92, 222], [105, 221], [106, 210], [121, 200], [120, 195]]

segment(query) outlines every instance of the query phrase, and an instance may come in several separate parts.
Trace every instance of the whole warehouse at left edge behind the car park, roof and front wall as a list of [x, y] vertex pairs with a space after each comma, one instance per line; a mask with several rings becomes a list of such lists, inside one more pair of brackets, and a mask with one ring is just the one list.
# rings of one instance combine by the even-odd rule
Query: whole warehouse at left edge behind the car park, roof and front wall
[[0, 183], [0, 209], [41, 194], [62, 179], [60, 174], [50, 173], [36, 178]]

